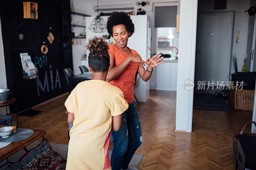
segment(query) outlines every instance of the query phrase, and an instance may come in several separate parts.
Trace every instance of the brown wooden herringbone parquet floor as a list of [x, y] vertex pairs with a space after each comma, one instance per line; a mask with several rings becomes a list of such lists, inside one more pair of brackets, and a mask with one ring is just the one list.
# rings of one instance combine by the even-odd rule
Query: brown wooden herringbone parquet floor
[[[20, 127], [46, 130], [49, 142], [67, 144], [67, 97], [34, 107], [43, 111], [34, 117], [19, 116]], [[193, 110], [192, 133], [174, 133], [175, 107], [175, 91], [155, 90], [137, 107], [143, 143], [136, 153], [144, 154], [139, 169], [234, 169], [232, 136], [252, 119], [252, 112], [233, 110], [230, 105], [229, 112]]]

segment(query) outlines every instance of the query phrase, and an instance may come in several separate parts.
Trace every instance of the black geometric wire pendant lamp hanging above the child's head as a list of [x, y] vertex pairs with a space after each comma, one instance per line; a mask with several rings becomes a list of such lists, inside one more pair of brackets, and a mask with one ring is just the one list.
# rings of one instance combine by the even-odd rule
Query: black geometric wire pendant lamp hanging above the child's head
[[[97, 8], [97, 11], [95, 10]], [[102, 17], [99, 15], [99, 0], [97, 0], [97, 6], [94, 7], [94, 11], [98, 12], [98, 15], [93, 18], [89, 30], [92, 32], [104, 32], [107, 30], [106, 23]]]

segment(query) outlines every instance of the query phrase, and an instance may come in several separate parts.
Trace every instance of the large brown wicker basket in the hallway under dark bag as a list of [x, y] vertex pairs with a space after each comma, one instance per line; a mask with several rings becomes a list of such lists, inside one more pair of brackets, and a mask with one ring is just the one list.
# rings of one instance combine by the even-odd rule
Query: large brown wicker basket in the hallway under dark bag
[[228, 92], [228, 100], [237, 110], [252, 111], [253, 99], [254, 90], [236, 89], [233, 85], [233, 89], [230, 89]]

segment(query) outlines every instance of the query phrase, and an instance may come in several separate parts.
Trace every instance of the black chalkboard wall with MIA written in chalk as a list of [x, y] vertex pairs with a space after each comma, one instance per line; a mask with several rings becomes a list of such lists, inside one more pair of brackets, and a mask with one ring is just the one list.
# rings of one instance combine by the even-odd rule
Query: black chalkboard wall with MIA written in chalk
[[[71, 35], [63, 36], [63, 11], [70, 32], [69, 0], [34, 0], [38, 4], [38, 19], [23, 18], [23, 1], [3, 0], [0, 6], [7, 87], [17, 99], [18, 111], [27, 109], [28, 102], [34, 106], [68, 92], [62, 69], [73, 69], [72, 56], [63, 57], [63, 41], [71, 48]], [[47, 39], [50, 32], [54, 36], [52, 44]], [[46, 54], [41, 52], [44, 44], [48, 47]], [[28, 53], [38, 69], [39, 78], [30, 80], [31, 100], [28, 80], [22, 78], [20, 53]], [[10, 109], [13, 112], [14, 108]]]

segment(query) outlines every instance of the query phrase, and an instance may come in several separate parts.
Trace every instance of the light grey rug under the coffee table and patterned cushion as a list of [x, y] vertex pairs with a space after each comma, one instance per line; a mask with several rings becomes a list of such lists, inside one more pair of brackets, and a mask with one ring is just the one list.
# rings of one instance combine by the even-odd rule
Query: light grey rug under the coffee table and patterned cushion
[[[26, 148], [28, 150], [30, 150], [30, 149], [36, 147], [40, 143], [41, 143], [41, 141], [35, 141], [32, 144], [28, 145]], [[67, 158], [68, 145], [53, 144], [53, 143], [49, 143], [49, 144], [52, 146], [52, 150], [54, 150], [55, 152], [58, 152], [62, 158]], [[15, 153], [14, 155], [10, 156], [9, 161], [10, 162], [16, 162], [25, 153], [26, 152], [22, 149], [19, 152]], [[109, 158], [111, 158], [111, 153], [112, 153], [112, 151], [108, 151]], [[138, 169], [143, 156], [144, 155], [134, 154], [129, 166], [135, 167], [135, 168]], [[6, 160], [0, 162], [0, 166], [4, 165], [4, 163], [6, 163]], [[5, 169], [5, 167], [8, 166], [8, 165], [10, 165], [10, 164], [7, 164], [7, 165], [3, 166], [1, 169]]]

